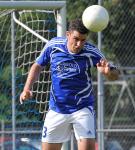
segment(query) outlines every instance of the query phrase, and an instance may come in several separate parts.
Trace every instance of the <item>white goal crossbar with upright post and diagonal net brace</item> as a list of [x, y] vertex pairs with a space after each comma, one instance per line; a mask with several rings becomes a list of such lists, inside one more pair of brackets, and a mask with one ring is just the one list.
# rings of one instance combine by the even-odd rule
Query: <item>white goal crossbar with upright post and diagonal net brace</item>
[[[57, 36], [65, 36], [66, 32], [66, 1], [0, 1], [0, 10], [13, 9], [13, 10], [34, 10], [34, 9], [52, 9], [57, 11]], [[21, 26], [25, 26], [20, 23], [17, 18], [13, 18], [16, 23]], [[24, 27], [25, 28], [25, 27]], [[28, 31], [29, 28], [26, 27]], [[33, 31], [34, 32], [34, 31]], [[36, 32], [33, 33], [36, 35]], [[42, 41], [47, 42], [44, 38], [38, 36]]]

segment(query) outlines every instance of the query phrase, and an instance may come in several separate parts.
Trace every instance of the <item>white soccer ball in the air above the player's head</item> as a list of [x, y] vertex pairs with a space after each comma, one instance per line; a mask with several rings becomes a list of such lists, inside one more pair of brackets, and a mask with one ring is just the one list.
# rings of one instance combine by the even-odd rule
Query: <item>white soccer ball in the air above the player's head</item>
[[82, 14], [84, 26], [93, 32], [104, 30], [109, 22], [108, 11], [100, 5], [87, 7]]

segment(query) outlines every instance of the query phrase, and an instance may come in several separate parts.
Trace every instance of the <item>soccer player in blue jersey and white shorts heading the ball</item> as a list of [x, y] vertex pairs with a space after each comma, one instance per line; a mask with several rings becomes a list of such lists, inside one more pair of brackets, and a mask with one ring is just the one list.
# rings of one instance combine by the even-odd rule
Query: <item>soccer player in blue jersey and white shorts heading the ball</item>
[[109, 80], [118, 79], [119, 71], [86, 41], [88, 32], [80, 19], [71, 21], [66, 37], [51, 39], [28, 74], [21, 103], [32, 96], [33, 83], [50, 63], [52, 85], [42, 150], [60, 150], [62, 143], [70, 140], [72, 129], [78, 150], [95, 150], [95, 99], [90, 69], [96, 67]]

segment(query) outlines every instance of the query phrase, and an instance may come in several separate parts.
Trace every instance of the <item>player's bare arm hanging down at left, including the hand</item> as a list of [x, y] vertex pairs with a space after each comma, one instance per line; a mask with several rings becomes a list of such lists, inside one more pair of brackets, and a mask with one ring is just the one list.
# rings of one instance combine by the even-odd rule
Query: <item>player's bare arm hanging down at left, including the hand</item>
[[23, 92], [20, 95], [20, 103], [21, 104], [24, 100], [32, 97], [31, 88], [32, 88], [32, 85], [34, 84], [34, 82], [37, 80], [41, 70], [42, 70], [42, 67], [39, 64], [34, 63], [32, 65], [32, 67], [29, 71]]

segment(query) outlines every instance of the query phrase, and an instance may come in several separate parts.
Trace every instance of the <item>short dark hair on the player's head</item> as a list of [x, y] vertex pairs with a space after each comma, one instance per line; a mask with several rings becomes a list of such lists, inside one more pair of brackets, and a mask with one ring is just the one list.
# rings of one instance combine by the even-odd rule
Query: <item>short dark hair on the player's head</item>
[[69, 23], [68, 31], [76, 30], [81, 34], [87, 34], [89, 30], [83, 25], [83, 22], [81, 19], [72, 20]]

